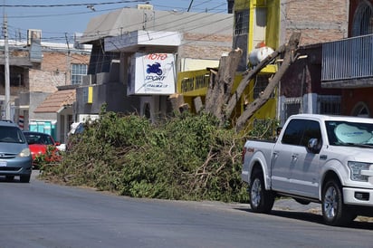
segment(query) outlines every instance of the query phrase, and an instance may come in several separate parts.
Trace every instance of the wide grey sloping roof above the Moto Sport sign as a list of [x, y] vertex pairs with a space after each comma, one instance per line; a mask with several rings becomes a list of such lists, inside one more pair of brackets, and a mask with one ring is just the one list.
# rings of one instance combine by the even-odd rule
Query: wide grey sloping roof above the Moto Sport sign
[[233, 14], [122, 8], [91, 18], [80, 42], [92, 43], [104, 37], [138, 30], [232, 35], [233, 24]]

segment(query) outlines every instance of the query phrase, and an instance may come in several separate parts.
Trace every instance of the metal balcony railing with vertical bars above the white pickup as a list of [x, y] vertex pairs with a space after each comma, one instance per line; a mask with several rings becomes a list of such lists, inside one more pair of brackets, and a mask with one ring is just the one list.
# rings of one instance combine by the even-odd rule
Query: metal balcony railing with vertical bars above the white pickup
[[322, 44], [321, 81], [373, 78], [373, 34]]

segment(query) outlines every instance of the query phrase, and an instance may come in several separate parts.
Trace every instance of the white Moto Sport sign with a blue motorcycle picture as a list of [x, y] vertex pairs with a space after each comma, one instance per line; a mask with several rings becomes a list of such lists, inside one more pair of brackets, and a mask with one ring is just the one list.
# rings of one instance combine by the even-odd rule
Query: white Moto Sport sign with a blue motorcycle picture
[[129, 95], [175, 93], [175, 56], [172, 53], [135, 53], [129, 73]]

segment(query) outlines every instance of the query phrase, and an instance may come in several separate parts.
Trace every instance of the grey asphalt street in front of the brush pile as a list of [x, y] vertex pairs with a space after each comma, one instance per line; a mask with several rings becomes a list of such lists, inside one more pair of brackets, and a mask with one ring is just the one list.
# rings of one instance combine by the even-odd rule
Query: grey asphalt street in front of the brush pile
[[134, 199], [33, 178], [0, 178], [0, 196], [2, 248], [373, 247], [373, 224], [330, 227], [312, 209], [284, 211], [298, 205], [288, 200], [255, 215], [248, 205]]

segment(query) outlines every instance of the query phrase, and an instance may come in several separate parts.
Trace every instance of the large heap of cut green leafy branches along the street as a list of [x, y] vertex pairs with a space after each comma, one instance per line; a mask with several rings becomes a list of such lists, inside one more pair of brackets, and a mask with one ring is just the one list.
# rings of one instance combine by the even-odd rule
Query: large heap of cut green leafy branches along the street
[[133, 197], [247, 201], [244, 138], [219, 128], [211, 115], [185, 112], [153, 124], [102, 112], [69, 140], [71, 148], [59, 165], [44, 169], [44, 178]]

